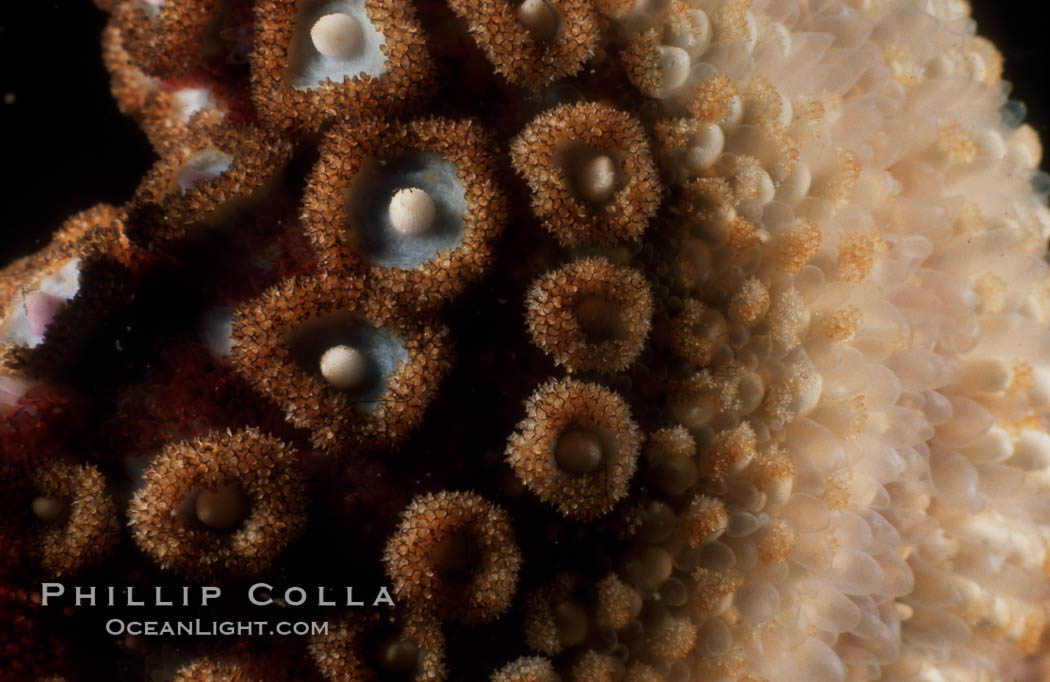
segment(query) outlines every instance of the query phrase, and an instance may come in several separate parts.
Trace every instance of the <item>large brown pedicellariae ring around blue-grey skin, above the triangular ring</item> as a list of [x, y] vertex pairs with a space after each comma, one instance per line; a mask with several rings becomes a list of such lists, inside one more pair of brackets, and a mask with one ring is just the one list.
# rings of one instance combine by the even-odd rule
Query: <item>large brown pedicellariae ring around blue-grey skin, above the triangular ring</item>
[[[365, 269], [377, 282], [378, 295], [390, 303], [405, 310], [433, 308], [460, 294], [491, 263], [492, 242], [507, 221], [507, 201], [497, 180], [497, 154], [491, 136], [474, 121], [369, 121], [338, 126], [324, 137], [320, 158], [308, 180], [302, 199], [303, 229], [320, 256], [334, 267], [355, 272]], [[429, 198], [439, 205], [437, 219], [456, 221], [459, 234], [433, 242], [433, 253], [420, 255], [418, 262], [402, 262], [399, 254], [387, 252], [381, 259], [373, 258], [366, 244], [375, 235], [369, 231], [378, 230], [385, 216], [361, 215], [360, 207], [348, 206], [348, 191], [356, 186], [363, 203], [374, 177], [398, 186], [397, 178], [386, 177], [382, 169], [406, 157], [432, 164], [436, 170], [415, 172], [400, 184], [398, 193], [420, 189], [412, 186], [412, 178], [425, 180], [427, 175], [455, 171], [462, 207], [454, 208], [450, 204], [458, 206], [458, 201], [448, 198]], [[414, 170], [418, 164], [413, 164]], [[397, 196], [388, 199], [394, 201]], [[388, 213], [391, 205], [385, 195], [382, 198], [379, 209]], [[387, 251], [411, 252], [423, 243], [414, 237], [425, 236], [402, 232], [390, 239], [394, 247]], [[374, 262], [377, 259], [401, 264], [384, 265]]]

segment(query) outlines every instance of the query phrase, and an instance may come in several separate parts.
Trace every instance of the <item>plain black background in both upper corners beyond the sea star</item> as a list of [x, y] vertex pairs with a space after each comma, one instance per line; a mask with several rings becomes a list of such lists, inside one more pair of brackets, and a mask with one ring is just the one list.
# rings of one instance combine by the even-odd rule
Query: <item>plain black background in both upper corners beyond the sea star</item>
[[[1006, 57], [1011, 99], [1048, 138], [1050, 79], [1040, 5], [973, 0], [979, 30]], [[153, 161], [118, 112], [102, 66], [105, 15], [90, 0], [0, 3], [0, 265], [36, 251], [70, 213], [131, 196]]]

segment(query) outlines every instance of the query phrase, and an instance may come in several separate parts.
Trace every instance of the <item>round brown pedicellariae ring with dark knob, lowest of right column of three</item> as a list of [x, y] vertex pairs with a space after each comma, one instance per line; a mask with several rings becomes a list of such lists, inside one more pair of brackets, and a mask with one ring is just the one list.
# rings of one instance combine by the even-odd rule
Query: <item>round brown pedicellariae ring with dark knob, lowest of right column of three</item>
[[518, 477], [566, 516], [590, 520], [627, 494], [640, 446], [624, 400], [597, 384], [549, 381], [507, 444]]

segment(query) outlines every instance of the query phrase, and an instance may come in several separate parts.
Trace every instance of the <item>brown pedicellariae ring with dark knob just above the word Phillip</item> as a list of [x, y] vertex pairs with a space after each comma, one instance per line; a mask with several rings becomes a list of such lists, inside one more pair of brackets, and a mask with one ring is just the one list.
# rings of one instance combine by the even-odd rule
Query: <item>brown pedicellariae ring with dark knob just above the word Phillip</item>
[[306, 502], [304, 474], [288, 444], [255, 429], [213, 432], [153, 459], [128, 525], [164, 569], [193, 580], [250, 576], [302, 530]]

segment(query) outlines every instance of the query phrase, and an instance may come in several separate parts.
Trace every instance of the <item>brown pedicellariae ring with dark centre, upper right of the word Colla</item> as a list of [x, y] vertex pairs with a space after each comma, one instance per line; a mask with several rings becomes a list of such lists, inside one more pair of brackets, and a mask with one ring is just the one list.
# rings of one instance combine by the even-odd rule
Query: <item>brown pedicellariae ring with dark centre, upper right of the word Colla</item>
[[443, 491], [401, 512], [383, 563], [395, 597], [414, 611], [484, 623], [510, 606], [521, 554], [503, 509], [474, 493]]

